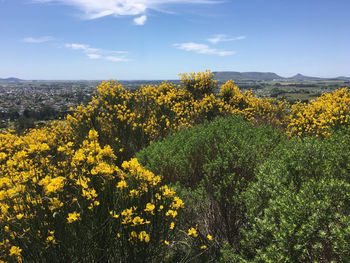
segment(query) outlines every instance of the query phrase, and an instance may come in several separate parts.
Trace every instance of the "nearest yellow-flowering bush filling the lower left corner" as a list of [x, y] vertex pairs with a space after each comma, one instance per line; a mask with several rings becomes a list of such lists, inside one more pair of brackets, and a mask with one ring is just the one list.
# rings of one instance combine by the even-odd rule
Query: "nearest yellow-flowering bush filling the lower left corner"
[[136, 159], [116, 166], [96, 131], [80, 147], [67, 134], [57, 125], [2, 135], [2, 259], [158, 262], [182, 200]]

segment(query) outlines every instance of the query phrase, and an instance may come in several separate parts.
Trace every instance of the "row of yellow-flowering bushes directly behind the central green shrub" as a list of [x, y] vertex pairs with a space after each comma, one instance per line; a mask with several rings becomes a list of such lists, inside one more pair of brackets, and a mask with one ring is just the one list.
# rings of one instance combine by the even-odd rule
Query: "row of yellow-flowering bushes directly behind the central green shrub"
[[218, 116], [243, 114], [250, 121], [284, 123], [283, 102], [242, 93], [233, 82], [222, 87], [233, 89], [233, 93], [216, 97], [212, 75], [209, 71], [182, 74], [182, 88], [165, 82], [136, 91], [128, 91], [116, 81], [103, 82], [91, 103], [77, 107], [67, 121], [76, 140], [81, 142], [94, 129], [101, 145], [110, 145], [120, 160], [132, 158], [157, 138]]

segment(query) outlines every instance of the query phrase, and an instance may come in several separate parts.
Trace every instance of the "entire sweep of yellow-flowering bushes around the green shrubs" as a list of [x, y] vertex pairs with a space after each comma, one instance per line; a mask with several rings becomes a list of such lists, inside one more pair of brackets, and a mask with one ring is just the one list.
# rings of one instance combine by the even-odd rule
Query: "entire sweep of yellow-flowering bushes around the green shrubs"
[[136, 152], [218, 116], [241, 114], [255, 124], [287, 127], [291, 136], [329, 135], [349, 123], [347, 89], [290, 109], [240, 91], [233, 81], [215, 94], [210, 71], [181, 77], [181, 85], [134, 91], [103, 82], [88, 105], [63, 121], [0, 134], [0, 262], [192, 260], [193, 251], [209, 250], [213, 231], [179, 220], [184, 202], [165, 184], [175, 172], [153, 174], [133, 158]]

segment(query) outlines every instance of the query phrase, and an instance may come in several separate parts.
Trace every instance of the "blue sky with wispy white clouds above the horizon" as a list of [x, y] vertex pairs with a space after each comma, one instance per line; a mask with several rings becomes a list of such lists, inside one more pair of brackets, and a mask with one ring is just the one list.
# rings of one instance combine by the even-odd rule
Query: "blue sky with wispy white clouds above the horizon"
[[350, 77], [349, 0], [0, 0], [0, 78]]

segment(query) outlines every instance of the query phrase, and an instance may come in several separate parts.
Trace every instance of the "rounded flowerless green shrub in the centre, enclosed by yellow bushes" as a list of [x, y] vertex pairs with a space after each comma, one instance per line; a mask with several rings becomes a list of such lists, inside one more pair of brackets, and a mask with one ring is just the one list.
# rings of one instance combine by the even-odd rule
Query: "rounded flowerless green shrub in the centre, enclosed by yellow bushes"
[[164, 182], [185, 188], [177, 192], [187, 201], [188, 222], [203, 226], [204, 235], [215, 233], [218, 248], [225, 241], [237, 247], [245, 222], [240, 194], [254, 180], [255, 167], [283, 138], [270, 126], [255, 128], [235, 116], [182, 130], [137, 158]]

